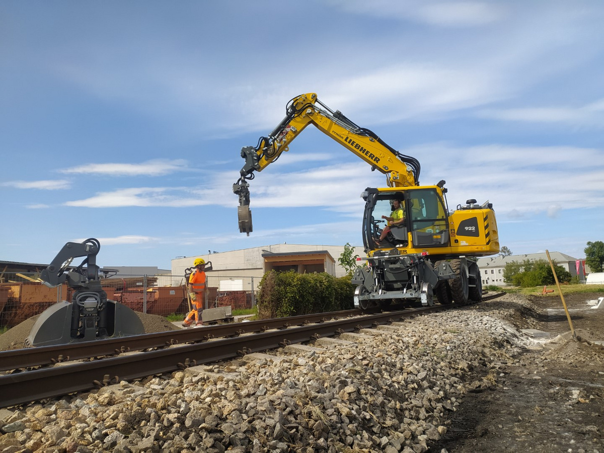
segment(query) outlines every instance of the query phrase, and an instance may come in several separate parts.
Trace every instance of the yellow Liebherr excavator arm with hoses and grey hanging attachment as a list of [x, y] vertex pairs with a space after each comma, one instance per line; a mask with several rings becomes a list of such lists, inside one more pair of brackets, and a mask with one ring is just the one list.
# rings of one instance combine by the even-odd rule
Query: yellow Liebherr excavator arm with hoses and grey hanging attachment
[[315, 93], [302, 94], [289, 101], [286, 116], [268, 137], [260, 137], [256, 147], [241, 150], [245, 164], [240, 178], [233, 184], [233, 192], [239, 196], [239, 231], [252, 231], [249, 211], [249, 183], [254, 172], [261, 172], [276, 161], [281, 153], [289, 150], [289, 144], [313, 124], [321, 132], [355, 153], [369, 165], [386, 175], [388, 187], [413, 187], [419, 185], [420, 164], [417, 159], [403, 155], [369, 129], [359, 127], [340, 111], [332, 111], [318, 100]]

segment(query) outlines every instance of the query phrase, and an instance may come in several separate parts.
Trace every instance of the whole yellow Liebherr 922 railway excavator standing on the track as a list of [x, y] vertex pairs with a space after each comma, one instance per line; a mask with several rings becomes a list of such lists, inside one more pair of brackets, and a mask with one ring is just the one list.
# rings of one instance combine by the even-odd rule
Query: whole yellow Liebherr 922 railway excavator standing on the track
[[[431, 306], [434, 300], [459, 305], [480, 301], [482, 284], [475, 258], [499, 252], [492, 204], [478, 205], [471, 199], [449, 211], [445, 181], [420, 185], [417, 159], [388, 146], [341, 112], [332, 111], [315, 93], [289, 101], [286, 117], [269, 136], [260, 137], [256, 147], [242, 148], [245, 164], [233, 185], [239, 196], [239, 231], [248, 236], [252, 231], [248, 181], [254, 179], [254, 172], [288, 151], [292, 140], [309, 124], [355, 153], [371, 170], [386, 175], [388, 187], [367, 188], [361, 194], [365, 200], [362, 237], [367, 263], [353, 275], [355, 305], [367, 309], [392, 301], [424, 306]], [[400, 205], [405, 220], [388, 226], [383, 234], [387, 225], [382, 216], [391, 218], [394, 204]]]

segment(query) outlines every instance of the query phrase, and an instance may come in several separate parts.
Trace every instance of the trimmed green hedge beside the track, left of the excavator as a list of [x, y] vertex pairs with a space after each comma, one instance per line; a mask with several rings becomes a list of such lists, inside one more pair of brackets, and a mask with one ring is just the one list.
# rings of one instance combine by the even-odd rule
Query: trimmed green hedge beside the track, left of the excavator
[[350, 277], [336, 278], [325, 272], [267, 272], [257, 298], [260, 319], [332, 312], [353, 308], [355, 287]]

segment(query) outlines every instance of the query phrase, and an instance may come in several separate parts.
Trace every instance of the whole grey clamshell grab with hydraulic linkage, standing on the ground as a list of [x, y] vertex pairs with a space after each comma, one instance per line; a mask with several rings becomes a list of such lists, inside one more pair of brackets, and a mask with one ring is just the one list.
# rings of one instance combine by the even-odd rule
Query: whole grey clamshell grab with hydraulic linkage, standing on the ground
[[[109, 300], [101, 288], [96, 257], [100, 243], [86, 239], [68, 242], [46, 269], [40, 272], [50, 288], [67, 283], [74, 291], [71, 302], [62, 301], [44, 310], [25, 340], [26, 347], [49, 346], [118, 336], [142, 335], [143, 323], [137, 313]], [[77, 267], [71, 262], [84, 257]]]

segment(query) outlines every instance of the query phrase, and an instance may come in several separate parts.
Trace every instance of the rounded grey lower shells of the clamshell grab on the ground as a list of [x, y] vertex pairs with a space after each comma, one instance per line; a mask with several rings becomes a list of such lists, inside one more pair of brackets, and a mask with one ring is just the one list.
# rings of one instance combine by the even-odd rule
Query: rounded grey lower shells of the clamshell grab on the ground
[[[48, 307], [37, 318], [30, 335], [25, 339], [25, 347], [50, 346], [96, 339], [116, 338], [119, 336], [143, 335], [145, 329], [137, 313], [123, 304], [107, 300], [101, 314], [102, 325], [99, 328], [98, 316], [74, 313], [79, 306], [62, 301]], [[85, 309], [84, 309], [85, 310]], [[80, 313], [82, 313], [80, 311]], [[77, 324], [74, 329], [74, 323]]]

